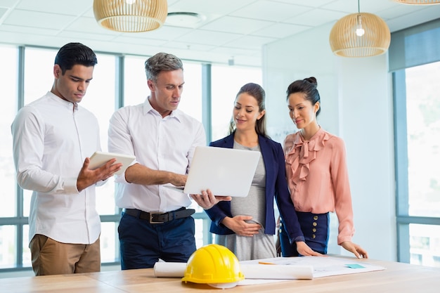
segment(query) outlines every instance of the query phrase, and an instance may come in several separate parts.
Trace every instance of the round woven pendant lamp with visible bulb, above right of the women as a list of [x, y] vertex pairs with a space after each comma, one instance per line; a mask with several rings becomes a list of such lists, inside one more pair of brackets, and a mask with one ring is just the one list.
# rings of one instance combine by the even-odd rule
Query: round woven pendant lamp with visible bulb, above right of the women
[[342, 57], [377, 56], [387, 52], [390, 41], [387, 23], [377, 15], [361, 13], [360, 8], [338, 20], [330, 31], [330, 47]]

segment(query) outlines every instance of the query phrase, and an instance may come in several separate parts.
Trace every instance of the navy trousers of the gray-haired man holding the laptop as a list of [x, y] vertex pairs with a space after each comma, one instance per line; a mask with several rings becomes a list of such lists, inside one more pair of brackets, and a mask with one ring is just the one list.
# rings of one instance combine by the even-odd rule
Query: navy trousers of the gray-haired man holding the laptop
[[123, 212], [117, 230], [122, 270], [153, 268], [159, 259], [186, 262], [195, 252], [195, 225], [191, 216], [150, 223]]

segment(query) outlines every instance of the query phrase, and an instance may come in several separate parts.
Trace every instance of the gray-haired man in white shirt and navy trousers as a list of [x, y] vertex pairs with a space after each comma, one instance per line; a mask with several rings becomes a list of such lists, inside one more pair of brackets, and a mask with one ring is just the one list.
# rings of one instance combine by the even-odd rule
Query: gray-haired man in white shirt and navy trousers
[[186, 183], [195, 147], [206, 145], [202, 123], [178, 110], [183, 64], [168, 53], [145, 61], [150, 96], [121, 108], [110, 119], [108, 150], [136, 156], [117, 176], [116, 204], [122, 208], [119, 243], [122, 269], [152, 268], [156, 261], [186, 262], [195, 251], [195, 225], [186, 209], [190, 197], [204, 209], [219, 200], [209, 190], [186, 195], [164, 187]]

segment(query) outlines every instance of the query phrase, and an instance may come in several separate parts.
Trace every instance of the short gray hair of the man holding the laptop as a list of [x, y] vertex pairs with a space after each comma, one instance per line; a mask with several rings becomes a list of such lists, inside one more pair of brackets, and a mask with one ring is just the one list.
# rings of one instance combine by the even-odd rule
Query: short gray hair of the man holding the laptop
[[169, 53], [157, 53], [145, 61], [145, 74], [147, 79], [157, 82], [161, 71], [183, 70], [182, 60]]

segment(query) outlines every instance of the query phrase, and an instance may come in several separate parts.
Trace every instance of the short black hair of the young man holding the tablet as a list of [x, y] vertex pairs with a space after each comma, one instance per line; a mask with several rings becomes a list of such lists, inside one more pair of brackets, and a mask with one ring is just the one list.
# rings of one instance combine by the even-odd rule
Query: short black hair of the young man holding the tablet
[[60, 65], [62, 74], [71, 70], [74, 65], [95, 66], [98, 63], [96, 54], [88, 46], [80, 43], [65, 44], [55, 57], [55, 64]]

